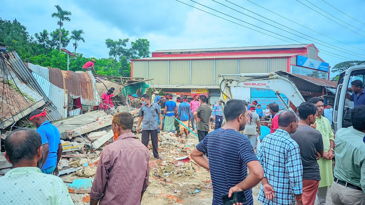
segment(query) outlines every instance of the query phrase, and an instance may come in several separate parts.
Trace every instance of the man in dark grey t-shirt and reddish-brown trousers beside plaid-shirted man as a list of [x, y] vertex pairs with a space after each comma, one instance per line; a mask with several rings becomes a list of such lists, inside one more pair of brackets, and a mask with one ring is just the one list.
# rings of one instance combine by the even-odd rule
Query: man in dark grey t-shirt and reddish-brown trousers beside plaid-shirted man
[[298, 143], [303, 164], [303, 204], [313, 205], [320, 180], [317, 160], [323, 156], [322, 134], [312, 127], [317, 117], [317, 107], [310, 102], [302, 102], [298, 107], [299, 127], [291, 138]]

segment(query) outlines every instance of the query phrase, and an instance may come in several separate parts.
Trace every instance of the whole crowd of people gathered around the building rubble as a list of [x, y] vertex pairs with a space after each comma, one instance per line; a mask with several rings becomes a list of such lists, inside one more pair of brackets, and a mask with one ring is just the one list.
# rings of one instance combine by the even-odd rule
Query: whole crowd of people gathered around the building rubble
[[[103, 94], [101, 109], [113, 92]], [[335, 141], [332, 120], [325, 117], [333, 112], [331, 104], [325, 109], [319, 97], [300, 104], [297, 113], [279, 112], [275, 103], [263, 111], [257, 101], [237, 99], [227, 101], [223, 110], [221, 102], [208, 105], [205, 95], [191, 101], [181, 95], [174, 101], [172, 94], [161, 98], [158, 91], [151, 97], [143, 94], [141, 101], [141, 142], [132, 133], [130, 113], [119, 112], [112, 119], [114, 140], [101, 152], [92, 205], [140, 204], [150, 175], [149, 140], [154, 158], [162, 159], [158, 133], [185, 134], [187, 139], [189, 121], [199, 138], [190, 155], [210, 171], [213, 205], [223, 203], [222, 194], [231, 197], [238, 191], [246, 197], [240, 205], [252, 205], [254, 197], [265, 205], [325, 205], [328, 187], [334, 205], [365, 205], [365, 105], [352, 110], [352, 126], [339, 129]], [[264, 116], [272, 118], [270, 128], [267, 122], [260, 125]], [[45, 111], [33, 111], [30, 121], [36, 130], [19, 128], [4, 140], [5, 158], [13, 169], [0, 178], [1, 204], [73, 204], [65, 183], [56, 177], [62, 155], [58, 129]], [[211, 121], [215, 127], [209, 132]], [[260, 192], [253, 196], [252, 187], [260, 182]]]

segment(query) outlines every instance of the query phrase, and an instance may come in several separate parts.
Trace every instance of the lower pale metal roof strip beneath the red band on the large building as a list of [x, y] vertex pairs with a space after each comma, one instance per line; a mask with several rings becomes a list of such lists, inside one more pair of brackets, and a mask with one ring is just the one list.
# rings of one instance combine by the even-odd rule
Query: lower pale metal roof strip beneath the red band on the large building
[[302, 53], [273, 53], [273, 54], [254, 54], [254, 55], [215, 55], [215, 56], [192, 56], [192, 57], [148, 57], [132, 59], [132, 61], [156, 61], [156, 60], [179, 60], [179, 59], [220, 59], [220, 58], [278, 58], [291, 57]]

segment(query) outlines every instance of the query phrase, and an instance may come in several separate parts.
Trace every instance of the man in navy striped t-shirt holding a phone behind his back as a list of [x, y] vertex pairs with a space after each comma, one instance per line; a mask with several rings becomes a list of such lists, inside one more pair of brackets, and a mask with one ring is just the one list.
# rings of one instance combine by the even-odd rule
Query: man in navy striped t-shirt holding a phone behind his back
[[[213, 205], [221, 205], [222, 194], [231, 197], [233, 192], [245, 190], [247, 201], [252, 205], [251, 188], [264, 177], [250, 140], [239, 133], [245, 129], [247, 121], [246, 102], [233, 99], [224, 106], [226, 124], [197, 144], [191, 152], [192, 159], [205, 169], [210, 170], [213, 183]], [[209, 161], [204, 154], [209, 155]], [[247, 168], [250, 174], [247, 174]]]

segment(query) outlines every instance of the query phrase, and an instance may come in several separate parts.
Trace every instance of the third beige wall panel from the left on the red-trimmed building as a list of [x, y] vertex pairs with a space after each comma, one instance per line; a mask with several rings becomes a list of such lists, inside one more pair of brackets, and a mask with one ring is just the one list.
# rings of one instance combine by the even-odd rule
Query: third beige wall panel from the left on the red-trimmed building
[[170, 61], [170, 85], [189, 84], [190, 61]]

